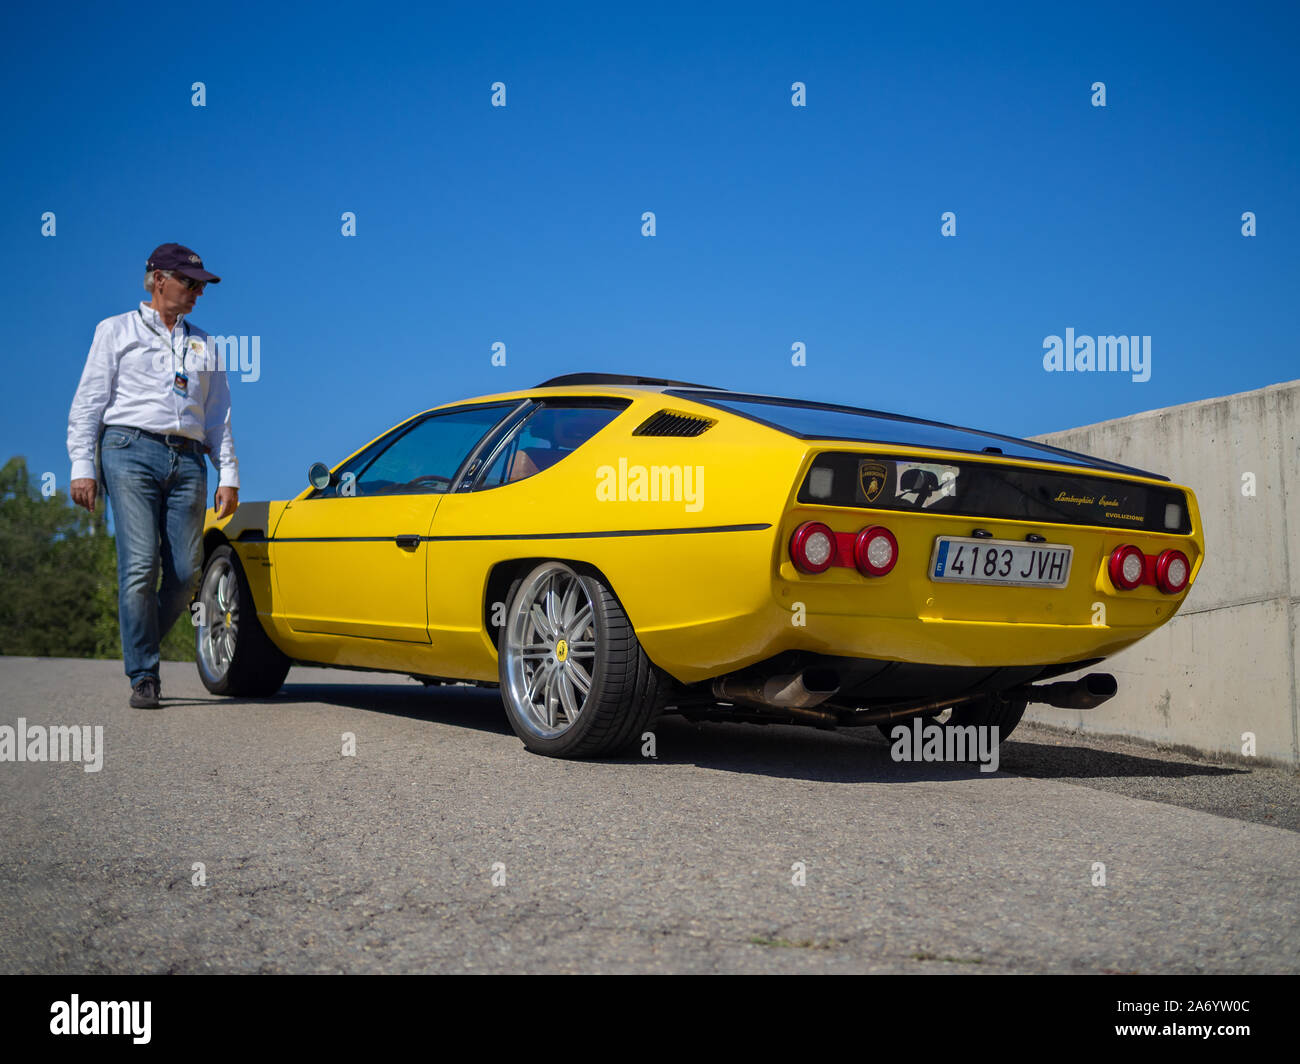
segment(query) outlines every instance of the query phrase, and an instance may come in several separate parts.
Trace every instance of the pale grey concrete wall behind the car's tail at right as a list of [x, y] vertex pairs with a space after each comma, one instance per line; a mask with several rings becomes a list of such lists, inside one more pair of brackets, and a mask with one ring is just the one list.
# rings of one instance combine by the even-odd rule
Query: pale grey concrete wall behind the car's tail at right
[[1114, 672], [1112, 701], [1026, 719], [1238, 754], [1251, 731], [1258, 757], [1300, 764], [1297, 431], [1300, 380], [1039, 437], [1190, 486], [1205, 563], [1169, 624], [1089, 670]]

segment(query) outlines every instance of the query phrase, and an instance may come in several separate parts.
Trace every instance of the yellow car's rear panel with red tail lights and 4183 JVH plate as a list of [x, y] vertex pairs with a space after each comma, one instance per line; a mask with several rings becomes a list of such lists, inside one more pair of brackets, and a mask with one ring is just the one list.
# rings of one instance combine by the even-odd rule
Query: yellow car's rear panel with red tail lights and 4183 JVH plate
[[1184, 488], [849, 444], [810, 453], [781, 539], [777, 593], [819, 643], [950, 666], [1112, 654], [1173, 617], [1202, 561]]

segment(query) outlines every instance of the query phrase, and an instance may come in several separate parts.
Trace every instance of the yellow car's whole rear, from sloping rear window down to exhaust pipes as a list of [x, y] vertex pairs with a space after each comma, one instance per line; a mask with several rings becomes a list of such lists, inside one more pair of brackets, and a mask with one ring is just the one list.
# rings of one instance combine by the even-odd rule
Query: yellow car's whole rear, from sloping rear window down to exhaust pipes
[[788, 623], [718, 697], [823, 714], [997, 692], [1095, 705], [1109, 679], [1027, 685], [1169, 620], [1204, 558], [1195, 496], [1152, 473], [846, 407], [708, 402], [806, 444], [772, 558]]

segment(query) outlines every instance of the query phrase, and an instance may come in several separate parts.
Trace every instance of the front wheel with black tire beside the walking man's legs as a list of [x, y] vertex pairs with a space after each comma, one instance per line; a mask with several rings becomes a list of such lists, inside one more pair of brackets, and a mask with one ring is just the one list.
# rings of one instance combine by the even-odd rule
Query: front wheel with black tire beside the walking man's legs
[[239, 555], [218, 546], [203, 567], [198, 601], [207, 624], [195, 628], [199, 679], [213, 695], [266, 696], [285, 683], [289, 658], [263, 630]]

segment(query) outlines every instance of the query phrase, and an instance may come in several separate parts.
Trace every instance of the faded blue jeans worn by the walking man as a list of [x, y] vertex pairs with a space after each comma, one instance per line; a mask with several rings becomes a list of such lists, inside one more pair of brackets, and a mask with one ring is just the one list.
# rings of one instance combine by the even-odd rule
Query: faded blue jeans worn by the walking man
[[104, 431], [100, 460], [117, 536], [122, 663], [134, 685], [159, 678], [159, 643], [198, 588], [208, 467], [202, 454], [121, 428]]

